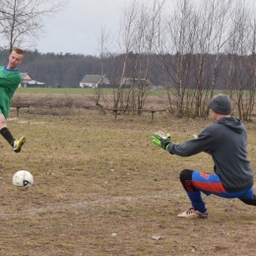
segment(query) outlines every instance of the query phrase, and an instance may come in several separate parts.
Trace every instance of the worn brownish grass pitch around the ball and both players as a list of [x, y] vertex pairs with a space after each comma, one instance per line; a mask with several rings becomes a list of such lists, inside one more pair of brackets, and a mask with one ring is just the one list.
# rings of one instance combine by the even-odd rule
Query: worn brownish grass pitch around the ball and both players
[[[0, 141], [0, 255], [255, 255], [253, 207], [211, 196], [208, 220], [176, 217], [190, 206], [179, 172], [211, 172], [210, 157], [171, 156], [151, 142], [158, 130], [183, 142], [211, 123], [165, 112], [152, 121], [149, 113], [12, 111], [10, 130], [28, 142], [15, 154]], [[245, 126], [255, 170], [255, 121]], [[12, 186], [19, 169], [34, 177], [27, 192]]]

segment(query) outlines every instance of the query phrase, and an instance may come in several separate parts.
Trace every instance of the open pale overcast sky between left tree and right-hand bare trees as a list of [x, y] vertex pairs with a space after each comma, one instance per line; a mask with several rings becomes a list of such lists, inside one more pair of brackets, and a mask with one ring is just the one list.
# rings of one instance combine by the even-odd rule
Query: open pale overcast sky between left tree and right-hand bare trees
[[[98, 55], [96, 35], [100, 34], [101, 27], [116, 33], [125, 5], [133, 1], [69, 0], [64, 11], [45, 23], [46, 34], [40, 37], [36, 49], [41, 53]], [[138, 1], [149, 3], [151, 0]], [[247, 1], [253, 3], [256, 0]]]

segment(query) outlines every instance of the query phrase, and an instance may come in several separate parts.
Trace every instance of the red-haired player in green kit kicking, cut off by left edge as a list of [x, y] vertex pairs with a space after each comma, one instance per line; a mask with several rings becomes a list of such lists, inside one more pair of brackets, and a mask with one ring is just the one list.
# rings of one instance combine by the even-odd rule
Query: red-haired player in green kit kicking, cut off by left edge
[[11, 98], [22, 82], [22, 76], [17, 67], [23, 62], [24, 51], [16, 48], [9, 55], [8, 65], [0, 66], [0, 134], [12, 146], [16, 153], [21, 152], [22, 146], [26, 142], [23, 136], [20, 140], [14, 139], [7, 128], [7, 118], [10, 111]]

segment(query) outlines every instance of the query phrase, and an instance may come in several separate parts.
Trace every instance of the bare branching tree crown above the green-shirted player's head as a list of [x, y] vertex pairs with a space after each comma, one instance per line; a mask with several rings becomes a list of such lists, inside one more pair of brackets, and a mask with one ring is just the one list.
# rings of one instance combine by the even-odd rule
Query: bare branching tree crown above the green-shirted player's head
[[61, 11], [68, 0], [1, 0], [2, 48], [31, 49], [43, 32], [44, 18]]

